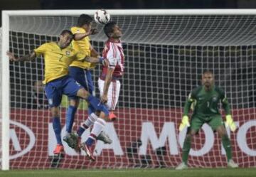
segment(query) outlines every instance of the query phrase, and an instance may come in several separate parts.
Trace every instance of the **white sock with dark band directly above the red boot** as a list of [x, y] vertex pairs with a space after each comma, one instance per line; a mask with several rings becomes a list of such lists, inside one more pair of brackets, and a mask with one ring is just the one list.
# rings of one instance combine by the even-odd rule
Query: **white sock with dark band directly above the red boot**
[[92, 128], [92, 132], [85, 142], [88, 146], [92, 146], [93, 142], [95, 141], [96, 137], [102, 132], [102, 129], [105, 127], [106, 122], [104, 119], [98, 118]]

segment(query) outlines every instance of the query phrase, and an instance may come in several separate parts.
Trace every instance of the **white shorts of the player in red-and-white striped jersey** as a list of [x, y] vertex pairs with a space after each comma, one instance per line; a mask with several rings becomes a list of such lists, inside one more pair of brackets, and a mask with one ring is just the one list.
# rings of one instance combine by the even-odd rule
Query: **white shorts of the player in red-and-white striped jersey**
[[[100, 96], [103, 94], [104, 83], [105, 80], [101, 80], [99, 78], [98, 86], [100, 90]], [[107, 92], [107, 109], [112, 111], [115, 109], [119, 98], [120, 87], [121, 85], [119, 80], [116, 80], [116, 82], [110, 82], [110, 87]]]

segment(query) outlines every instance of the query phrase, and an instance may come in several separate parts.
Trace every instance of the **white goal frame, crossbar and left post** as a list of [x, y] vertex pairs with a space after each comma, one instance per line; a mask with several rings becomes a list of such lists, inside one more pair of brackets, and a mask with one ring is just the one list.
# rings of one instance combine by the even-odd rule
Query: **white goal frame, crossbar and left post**
[[[208, 16], [208, 15], [256, 15], [256, 9], [131, 9], [108, 10], [113, 16]], [[34, 11], [2, 11], [2, 45], [1, 45], [1, 168], [9, 170], [9, 123], [10, 123], [10, 81], [9, 60], [9, 18], [10, 16], [79, 16], [92, 15], [95, 10], [34, 10]], [[4, 146], [6, 145], [6, 146]]]

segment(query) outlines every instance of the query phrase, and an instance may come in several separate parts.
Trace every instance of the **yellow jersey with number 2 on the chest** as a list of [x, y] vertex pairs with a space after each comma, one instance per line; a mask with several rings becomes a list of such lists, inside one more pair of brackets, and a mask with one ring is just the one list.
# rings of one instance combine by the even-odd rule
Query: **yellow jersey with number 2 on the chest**
[[61, 49], [58, 43], [44, 43], [35, 50], [36, 56], [43, 55], [45, 62], [45, 74], [43, 84], [68, 75], [68, 65], [73, 60], [84, 60], [85, 53], [78, 47], [69, 45]]

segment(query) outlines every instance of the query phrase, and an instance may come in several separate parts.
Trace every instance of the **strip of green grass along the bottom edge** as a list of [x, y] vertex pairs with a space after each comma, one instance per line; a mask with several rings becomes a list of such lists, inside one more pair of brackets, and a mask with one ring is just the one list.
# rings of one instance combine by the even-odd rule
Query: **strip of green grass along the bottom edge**
[[11, 170], [3, 177], [256, 177], [256, 168], [122, 169], [122, 170]]

